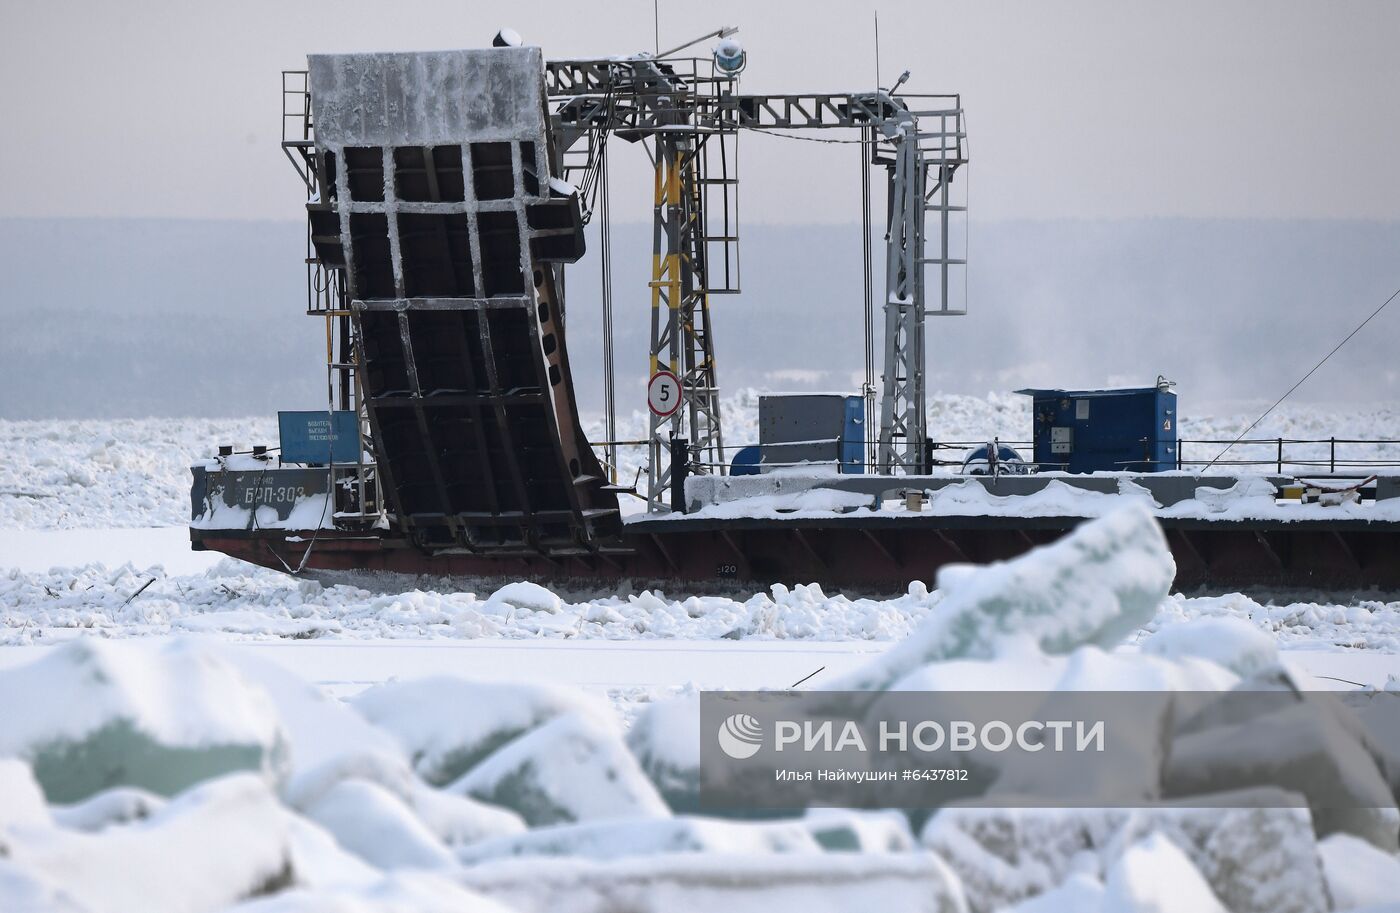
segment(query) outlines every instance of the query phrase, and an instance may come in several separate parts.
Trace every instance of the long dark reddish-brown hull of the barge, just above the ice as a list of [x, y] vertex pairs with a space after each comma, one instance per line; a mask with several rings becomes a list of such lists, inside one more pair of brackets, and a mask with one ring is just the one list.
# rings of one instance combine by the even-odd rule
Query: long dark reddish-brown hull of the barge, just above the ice
[[[938, 569], [1016, 557], [1054, 542], [1081, 518], [956, 517], [829, 522], [662, 518], [630, 522], [619, 539], [575, 555], [434, 552], [392, 532], [192, 529], [196, 550], [273, 570], [368, 571], [448, 578], [622, 580], [732, 590], [773, 583], [896, 592]], [[1400, 590], [1400, 522], [1163, 521], [1176, 590], [1316, 587]]]

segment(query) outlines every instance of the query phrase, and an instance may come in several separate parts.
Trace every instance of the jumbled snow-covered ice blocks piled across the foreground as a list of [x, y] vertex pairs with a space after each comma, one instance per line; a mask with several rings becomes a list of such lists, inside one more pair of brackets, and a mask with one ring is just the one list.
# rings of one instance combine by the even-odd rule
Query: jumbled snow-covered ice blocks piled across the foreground
[[[1338, 704], [1291, 725], [1298, 707], [1330, 704], [1295, 695], [1261, 626], [1175, 615], [1170, 578], [1161, 531], [1130, 506], [1015, 562], [948, 571], [937, 598], [909, 594], [923, 609], [906, 615], [906, 641], [841, 688], [875, 700], [882, 689], [1023, 689], [1046, 706], [1077, 690], [1148, 690], [1170, 707], [1163, 744], [1142, 746], [1134, 774], [1148, 808], [958, 805], [927, 822], [696, 814], [693, 692], [624, 716], [587, 695], [440, 676], [343, 703], [207, 637], [77, 639], [0, 671], [0, 910], [1323, 913], [1400, 902], [1400, 767], [1389, 742], [1358, 735], [1380, 710], [1352, 717]], [[545, 594], [508, 588], [473, 611], [511, 625], [574, 611]], [[1114, 651], [1144, 627], [1156, 630], [1138, 650]], [[1273, 689], [1277, 716], [1232, 717], [1222, 702], [1245, 688]], [[1285, 745], [1284, 725], [1312, 735]], [[1345, 751], [1326, 759], [1322, 745]], [[1322, 814], [1319, 783], [1379, 808]]]

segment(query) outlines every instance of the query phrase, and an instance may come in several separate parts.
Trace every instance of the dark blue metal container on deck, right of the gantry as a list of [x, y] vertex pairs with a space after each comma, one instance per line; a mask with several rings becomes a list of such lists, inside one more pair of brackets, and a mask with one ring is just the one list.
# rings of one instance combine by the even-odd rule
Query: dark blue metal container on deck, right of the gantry
[[1176, 393], [1127, 389], [1019, 389], [1033, 398], [1040, 472], [1176, 469]]

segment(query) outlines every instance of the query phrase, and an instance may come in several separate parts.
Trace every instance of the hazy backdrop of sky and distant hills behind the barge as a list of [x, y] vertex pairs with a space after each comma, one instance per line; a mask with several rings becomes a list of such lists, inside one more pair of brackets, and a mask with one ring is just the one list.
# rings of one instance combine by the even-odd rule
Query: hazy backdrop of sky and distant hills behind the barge
[[[1400, 4], [662, 0], [659, 32], [666, 46], [738, 25], [743, 91], [860, 91], [876, 7], [881, 83], [907, 67], [907, 90], [960, 92], [967, 112], [970, 316], [934, 323], [931, 389], [1163, 372], [1197, 407], [1270, 402], [1400, 286]], [[315, 405], [280, 71], [312, 52], [482, 46], [503, 25], [550, 57], [654, 42], [648, 0], [0, 8], [0, 417]], [[627, 409], [651, 175], [615, 143]], [[742, 137], [745, 294], [715, 316], [725, 389], [860, 372], [857, 164], [851, 146]], [[596, 406], [596, 248], [568, 276], [580, 399]], [[1295, 399], [1400, 399], [1397, 321]]]

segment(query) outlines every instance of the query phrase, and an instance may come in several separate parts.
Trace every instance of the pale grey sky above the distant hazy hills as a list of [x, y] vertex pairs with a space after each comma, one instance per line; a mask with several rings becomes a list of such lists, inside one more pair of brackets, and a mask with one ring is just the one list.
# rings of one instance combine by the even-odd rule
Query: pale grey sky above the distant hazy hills
[[[963, 94], [976, 218], [1400, 217], [1396, 3], [659, 6], [664, 46], [738, 25], [741, 91], [774, 92], [868, 90], [878, 7], [885, 84]], [[281, 69], [501, 25], [549, 57], [652, 46], [650, 0], [6, 0], [0, 217], [300, 218]], [[650, 217], [633, 157], [627, 221]], [[745, 134], [741, 158], [746, 220], [858, 218], [851, 147]]]

